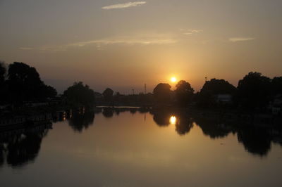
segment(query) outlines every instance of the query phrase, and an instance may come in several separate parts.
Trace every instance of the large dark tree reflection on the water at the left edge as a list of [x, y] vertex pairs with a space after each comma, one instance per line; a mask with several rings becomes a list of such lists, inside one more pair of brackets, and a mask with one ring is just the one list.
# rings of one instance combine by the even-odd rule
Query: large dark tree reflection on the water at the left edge
[[26, 129], [22, 133], [0, 138], [0, 165], [4, 160], [12, 167], [23, 167], [37, 157], [42, 139], [47, 136], [46, 126], [41, 129]]

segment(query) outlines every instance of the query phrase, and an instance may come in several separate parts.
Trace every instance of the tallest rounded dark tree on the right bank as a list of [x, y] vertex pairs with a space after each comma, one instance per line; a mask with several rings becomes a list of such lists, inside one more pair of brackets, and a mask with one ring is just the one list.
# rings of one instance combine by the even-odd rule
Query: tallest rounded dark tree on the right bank
[[264, 108], [269, 103], [271, 79], [249, 72], [238, 83], [238, 99], [245, 108]]

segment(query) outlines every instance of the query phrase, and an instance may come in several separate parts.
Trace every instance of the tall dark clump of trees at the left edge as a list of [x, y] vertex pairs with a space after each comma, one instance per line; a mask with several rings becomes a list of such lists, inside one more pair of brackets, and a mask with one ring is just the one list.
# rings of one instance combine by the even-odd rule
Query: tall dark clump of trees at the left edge
[[20, 105], [25, 101], [45, 101], [57, 95], [56, 89], [44, 84], [35, 67], [25, 63], [0, 63], [0, 103]]

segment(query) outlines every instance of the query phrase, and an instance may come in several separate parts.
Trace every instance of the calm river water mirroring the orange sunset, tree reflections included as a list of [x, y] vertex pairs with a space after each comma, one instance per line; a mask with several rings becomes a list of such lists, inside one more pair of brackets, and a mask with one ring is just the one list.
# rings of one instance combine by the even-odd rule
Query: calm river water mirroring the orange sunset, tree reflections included
[[1, 187], [282, 186], [281, 129], [136, 110], [1, 136]]

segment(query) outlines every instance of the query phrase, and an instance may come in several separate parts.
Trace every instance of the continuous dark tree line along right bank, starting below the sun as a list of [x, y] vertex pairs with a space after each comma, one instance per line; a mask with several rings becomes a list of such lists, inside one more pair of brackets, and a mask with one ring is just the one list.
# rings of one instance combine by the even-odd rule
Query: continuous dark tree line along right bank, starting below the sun
[[[202, 89], [194, 93], [192, 86], [181, 80], [172, 91], [169, 84], [160, 83], [154, 88], [154, 103], [157, 105], [178, 104], [182, 107], [195, 104], [200, 107], [217, 107], [223, 103], [217, 100], [219, 95], [231, 96], [228, 103], [233, 108], [265, 109], [269, 101], [282, 96], [282, 77], [270, 79], [259, 72], [250, 72], [240, 79], [235, 87], [224, 79], [206, 81]], [[226, 103], [224, 103], [226, 104]]]

